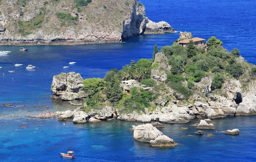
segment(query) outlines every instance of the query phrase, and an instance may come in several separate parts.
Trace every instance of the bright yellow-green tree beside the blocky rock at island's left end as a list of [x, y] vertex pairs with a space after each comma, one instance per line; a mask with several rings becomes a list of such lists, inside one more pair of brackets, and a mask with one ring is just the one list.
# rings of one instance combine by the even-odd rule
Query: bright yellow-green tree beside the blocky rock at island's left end
[[101, 78], [89, 78], [84, 79], [83, 84], [85, 93], [87, 93], [89, 97], [92, 97], [94, 94], [104, 89], [106, 82]]

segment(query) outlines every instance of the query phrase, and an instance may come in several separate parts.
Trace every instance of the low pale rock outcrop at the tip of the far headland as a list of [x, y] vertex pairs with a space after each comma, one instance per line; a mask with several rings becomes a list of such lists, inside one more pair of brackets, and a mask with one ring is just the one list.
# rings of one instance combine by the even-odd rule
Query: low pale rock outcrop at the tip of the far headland
[[155, 23], [151, 20], [148, 20], [144, 34], [158, 34], [166, 32], [175, 32], [175, 30], [172, 28], [172, 26], [170, 26], [169, 23], [166, 23], [165, 21]]

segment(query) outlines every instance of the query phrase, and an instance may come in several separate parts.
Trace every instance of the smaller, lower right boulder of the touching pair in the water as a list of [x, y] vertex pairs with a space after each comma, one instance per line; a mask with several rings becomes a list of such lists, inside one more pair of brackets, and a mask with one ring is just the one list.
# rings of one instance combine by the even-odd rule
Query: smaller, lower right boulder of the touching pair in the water
[[153, 147], [170, 147], [170, 146], [174, 147], [178, 144], [174, 142], [173, 139], [170, 139], [169, 137], [162, 135], [162, 136], [158, 136], [154, 140], [151, 140], [150, 145]]

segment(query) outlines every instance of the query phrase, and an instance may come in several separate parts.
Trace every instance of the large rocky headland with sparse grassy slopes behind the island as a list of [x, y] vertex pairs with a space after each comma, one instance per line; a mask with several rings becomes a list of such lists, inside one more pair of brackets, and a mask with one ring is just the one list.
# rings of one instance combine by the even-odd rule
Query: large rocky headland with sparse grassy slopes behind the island
[[[149, 22], [136, 0], [92, 0], [87, 6], [74, 0], [1, 0], [0, 45], [120, 42], [143, 34]], [[161, 22], [154, 31], [174, 30]]]

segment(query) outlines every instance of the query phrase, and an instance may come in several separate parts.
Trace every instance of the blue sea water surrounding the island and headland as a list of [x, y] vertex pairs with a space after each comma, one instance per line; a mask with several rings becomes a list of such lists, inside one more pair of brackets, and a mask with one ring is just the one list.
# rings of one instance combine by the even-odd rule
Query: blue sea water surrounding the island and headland
[[[146, 142], [134, 141], [129, 128], [141, 124], [138, 122], [73, 124], [56, 118], [24, 117], [28, 112], [31, 115], [43, 113], [46, 106], [52, 112], [67, 108], [67, 102], [50, 98], [54, 75], [78, 72], [84, 79], [103, 78], [111, 68], [121, 69], [131, 60], [152, 58], [154, 45], [157, 44], [159, 49], [172, 45], [179, 38], [179, 31], [192, 32], [194, 37], [206, 40], [215, 36], [228, 51], [237, 48], [245, 60], [256, 64], [255, 0], [140, 2], [150, 20], [166, 21], [177, 32], [140, 35], [122, 43], [26, 46], [29, 51], [25, 52], [19, 51], [20, 46], [0, 46], [2, 50], [12, 51], [9, 55], [0, 55], [0, 67], [3, 67], [0, 69], [0, 105], [14, 105], [0, 106], [0, 162], [256, 161], [256, 116], [213, 119], [215, 129], [204, 130], [201, 136], [194, 134], [197, 129], [191, 126], [201, 119], [158, 128], [178, 143], [174, 148], [153, 148]], [[68, 65], [73, 61], [76, 64]], [[23, 66], [15, 67], [16, 63]], [[25, 67], [29, 64], [37, 68], [27, 70]], [[70, 68], [63, 69], [64, 66]], [[15, 72], [9, 73], [9, 70]], [[6, 116], [3, 118], [3, 115]], [[234, 128], [240, 130], [238, 136], [223, 133]], [[207, 133], [212, 136], [207, 137]], [[60, 157], [60, 152], [69, 150], [75, 152], [76, 158]]]

